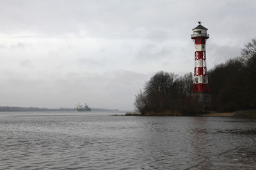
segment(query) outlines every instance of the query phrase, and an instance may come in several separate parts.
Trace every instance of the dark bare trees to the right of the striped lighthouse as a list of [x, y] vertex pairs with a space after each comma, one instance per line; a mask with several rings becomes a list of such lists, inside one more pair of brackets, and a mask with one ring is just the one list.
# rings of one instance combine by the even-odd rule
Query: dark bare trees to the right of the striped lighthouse
[[212, 110], [256, 108], [256, 39], [242, 48], [240, 57], [218, 64], [208, 75]]

